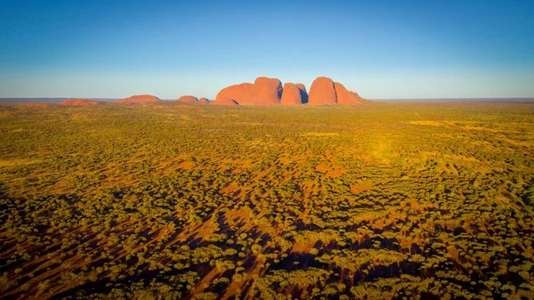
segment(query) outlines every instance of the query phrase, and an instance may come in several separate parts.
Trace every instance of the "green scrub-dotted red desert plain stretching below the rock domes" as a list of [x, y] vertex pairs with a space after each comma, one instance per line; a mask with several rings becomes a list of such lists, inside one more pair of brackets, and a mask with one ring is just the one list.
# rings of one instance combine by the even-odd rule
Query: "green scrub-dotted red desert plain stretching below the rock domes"
[[0, 107], [0, 297], [533, 299], [534, 103]]

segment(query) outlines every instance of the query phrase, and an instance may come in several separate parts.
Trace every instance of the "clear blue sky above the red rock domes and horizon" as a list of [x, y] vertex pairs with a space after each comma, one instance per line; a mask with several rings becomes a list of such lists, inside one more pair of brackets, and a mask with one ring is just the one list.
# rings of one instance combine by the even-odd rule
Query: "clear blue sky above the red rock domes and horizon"
[[534, 1], [0, 1], [0, 97], [534, 97]]

